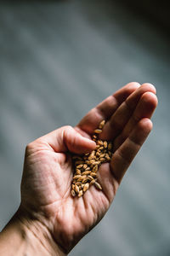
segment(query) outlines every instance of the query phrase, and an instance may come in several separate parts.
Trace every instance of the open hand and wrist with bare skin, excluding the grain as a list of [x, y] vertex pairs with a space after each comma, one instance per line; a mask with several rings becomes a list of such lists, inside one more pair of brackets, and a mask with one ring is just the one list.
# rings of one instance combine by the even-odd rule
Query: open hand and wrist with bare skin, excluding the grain
[[[74, 128], [63, 126], [26, 147], [18, 211], [0, 234], [0, 255], [67, 255], [111, 206], [138, 153], [157, 105], [152, 84], [129, 83], [93, 108]], [[111, 163], [99, 167], [102, 190], [91, 186], [71, 196], [71, 153], [92, 151], [94, 129], [105, 119], [101, 139], [114, 144]]]

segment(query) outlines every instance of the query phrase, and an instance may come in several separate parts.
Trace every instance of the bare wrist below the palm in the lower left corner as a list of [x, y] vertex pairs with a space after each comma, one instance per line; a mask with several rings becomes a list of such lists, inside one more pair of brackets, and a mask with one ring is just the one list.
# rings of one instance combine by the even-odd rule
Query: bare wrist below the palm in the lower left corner
[[65, 256], [40, 221], [20, 211], [14, 214], [0, 235], [1, 255]]

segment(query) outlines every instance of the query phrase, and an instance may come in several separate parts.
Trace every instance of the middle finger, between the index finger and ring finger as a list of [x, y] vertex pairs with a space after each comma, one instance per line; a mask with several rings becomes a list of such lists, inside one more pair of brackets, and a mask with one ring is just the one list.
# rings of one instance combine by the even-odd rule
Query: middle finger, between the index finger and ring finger
[[111, 116], [111, 119], [106, 122], [103, 132], [100, 135], [101, 139], [113, 140], [122, 132], [128, 119], [132, 116], [140, 97], [147, 91], [156, 94], [156, 88], [152, 84], [142, 84], [139, 89], [135, 90], [122, 102], [121, 106]]

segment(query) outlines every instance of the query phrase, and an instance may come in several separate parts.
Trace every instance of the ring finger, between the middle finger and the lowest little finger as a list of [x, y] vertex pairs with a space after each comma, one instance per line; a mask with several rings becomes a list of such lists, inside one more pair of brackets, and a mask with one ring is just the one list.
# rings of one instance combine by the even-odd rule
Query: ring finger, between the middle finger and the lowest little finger
[[157, 97], [152, 92], [145, 92], [141, 96], [136, 109], [133, 112], [132, 117], [128, 120], [127, 125], [125, 125], [122, 133], [116, 137], [114, 141], [114, 150], [119, 148], [120, 145], [127, 139], [133, 127], [143, 118], [151, 118], [157, 106]]

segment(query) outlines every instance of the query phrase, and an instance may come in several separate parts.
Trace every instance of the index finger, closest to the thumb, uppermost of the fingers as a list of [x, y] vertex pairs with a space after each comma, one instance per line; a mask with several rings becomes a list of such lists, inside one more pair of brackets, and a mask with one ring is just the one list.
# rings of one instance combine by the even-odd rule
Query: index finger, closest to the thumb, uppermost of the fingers
[[114, 95], [107, 97], [85, 115], [77, 125], [77, 130], [92, 134], [99, 122], [103, 119], [110, 119], [116, 109], [127, 99], [127, 96], [131, 95], [139, 86], [140, 84], [136, 82], [129, 83], [117, 90]]

